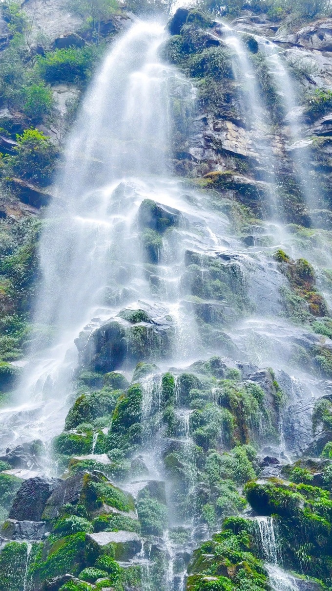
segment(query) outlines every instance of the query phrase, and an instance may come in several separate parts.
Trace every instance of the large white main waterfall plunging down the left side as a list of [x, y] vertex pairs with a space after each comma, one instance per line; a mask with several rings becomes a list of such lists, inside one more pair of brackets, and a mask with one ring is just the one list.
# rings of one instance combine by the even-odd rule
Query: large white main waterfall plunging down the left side
[[[179, 204], [177, 184], [163, 180], [171, 92], [193, 100], [187, 81], [158, 57], [164, 39], [164, 27], [144, 22], [122, 35], [88, 90], [67, 142], [54, 189], [57, 197], [41, 237], [43, 281], [34, 316], [36, 323], [52, 326], [55, 336], [48, 350], [31, 350], [34, 361], [19, 385], [17, 407], [2, 410], [4, 421], [11, 417], [14, 440], [17, 431], [27, 440], [60, 433], [77, 365], [74, 339], [82, 329], [115, 316], [128, 300], [155, 299], [143, 269], [135, 216], [144, 199]], [[167, 266], [173, 279], [174, 261]], [[188, 356], [192, 353], [186, 343], [193, 342], [195, 329], [194, 323], [188, 329], [179, 297], [178, 289], [172, 291], [162, 311], [174, 316], [181, 334], [177, 350]], [[149, 331], [153, 349], [158, 339]]]

